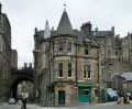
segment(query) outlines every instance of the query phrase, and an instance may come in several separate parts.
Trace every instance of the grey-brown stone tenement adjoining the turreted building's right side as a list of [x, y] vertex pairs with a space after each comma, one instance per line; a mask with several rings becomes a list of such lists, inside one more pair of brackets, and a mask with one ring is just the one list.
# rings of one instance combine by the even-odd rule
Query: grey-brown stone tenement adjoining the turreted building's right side
[[[130, 43], [121, 40], [119, 35], [116, 35], [114, 26], [109, 31], [99, 31], [98, 28], [96, 28], [95, 31], [92, 31], [92, 36], [100, 45], [101, 85], [106, 88], [112, 87], [112, 76], [132, 70], [131, 64], [128, 62], [130, 59], [128, 51], [130, 51], [131, 47], [127, 48], [127, 46], [130, 46]], [[125, 42], [125, 46], [122, 46], [123, 42]]]

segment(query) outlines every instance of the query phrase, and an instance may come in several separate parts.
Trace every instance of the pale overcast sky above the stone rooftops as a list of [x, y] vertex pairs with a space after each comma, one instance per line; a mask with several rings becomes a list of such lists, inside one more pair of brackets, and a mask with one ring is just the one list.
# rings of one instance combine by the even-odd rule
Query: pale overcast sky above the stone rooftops
[[57, 29], [64, 4], [74, 29], [80, 29], [88, 21], [92, 30], [111, 30], [124, 37], [132, 32], [132, 0], [0, 0], [2, 12], [11, 23], [12, 48], [18, 51], [19, 67], [33, 63], [34, 29], [44, 30], [46, 20], [50, 28]]

